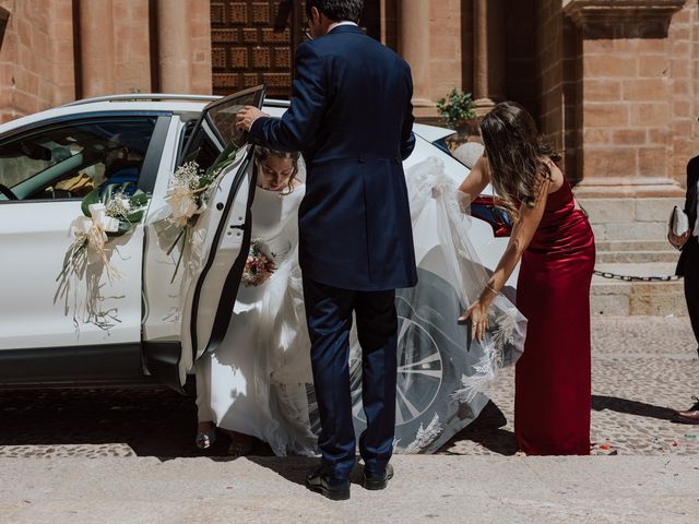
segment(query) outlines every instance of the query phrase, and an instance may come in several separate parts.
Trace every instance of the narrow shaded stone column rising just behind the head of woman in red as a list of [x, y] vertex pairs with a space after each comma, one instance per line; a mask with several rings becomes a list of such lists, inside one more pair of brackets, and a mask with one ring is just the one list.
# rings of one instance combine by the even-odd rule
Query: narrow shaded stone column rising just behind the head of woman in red
[[473, 2], [473, 98], [479, 114], [505, 97], [507, 44], [502, 0]]

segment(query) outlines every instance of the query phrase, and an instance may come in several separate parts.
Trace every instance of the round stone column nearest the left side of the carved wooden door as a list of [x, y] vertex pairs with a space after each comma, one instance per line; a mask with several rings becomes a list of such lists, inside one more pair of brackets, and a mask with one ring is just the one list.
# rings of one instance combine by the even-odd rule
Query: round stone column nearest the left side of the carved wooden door
[[159, 84], [163, 93], [190, 93], [190, 27], [187, 0], [157, 0]]

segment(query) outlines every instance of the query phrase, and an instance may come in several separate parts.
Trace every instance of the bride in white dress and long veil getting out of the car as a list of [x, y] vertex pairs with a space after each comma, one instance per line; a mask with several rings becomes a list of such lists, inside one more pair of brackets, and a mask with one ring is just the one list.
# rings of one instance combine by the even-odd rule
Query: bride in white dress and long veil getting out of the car
[[[319, 421], [296, 252], [299, 155], [258, 147], [256, 162], [252, 242], [234, 315], [225, 341], [196, 368], [197, 445], [209, 448], [217, 427], [230, 433], [233, 455], [249, 453], [252, 438], [277, 455], [313, 455]], [[419, 282], [396, 293], [395, 451], [430, 453], [485, 407], [487, 386], [522, 352], [526, 321], [500, 295], [483, 340], [471, 340], [469, 326], [457, 324], [488, 278], [469, 241], [467, 199], [435, 157], [405, 177]], [[357, 432], [364, 429], [360, 359], [353, 333]]]

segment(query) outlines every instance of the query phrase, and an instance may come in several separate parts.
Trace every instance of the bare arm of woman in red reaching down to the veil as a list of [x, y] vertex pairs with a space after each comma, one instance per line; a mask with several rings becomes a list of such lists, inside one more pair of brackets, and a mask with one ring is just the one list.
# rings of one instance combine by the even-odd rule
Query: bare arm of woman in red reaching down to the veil
[[510, 277], [514, 267], [522, 259], [522, 254], [529, 247], [534, 233], [538, 227], [546, 209], [546, 200], [550, 180], [544, 180], [537, 192], [536, 203], [533, 207], [525, 204], [520, 206], [520, 218], [512, 227], [512, 235], [507, 245], [507, 249], [500, 259], [495, 272], [490, 275], [485, 288], [481, 293], [478, 300], [473, 302], [471, 307], [459, 318], [460, 322], [471, 317], [473, 325], [473, 336], [476, 340], [483, 340], [486, 329], [488, 327], [488, 309], [497, 294], [505, 287], [507, 279]]

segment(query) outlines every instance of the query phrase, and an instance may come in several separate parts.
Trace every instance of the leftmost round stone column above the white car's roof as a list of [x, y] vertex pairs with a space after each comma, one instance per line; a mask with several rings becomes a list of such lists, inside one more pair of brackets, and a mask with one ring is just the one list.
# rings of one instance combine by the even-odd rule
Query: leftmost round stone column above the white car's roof
[[80, 1], [82, 96], [114, 93], [114, 20], [111, 0]]

